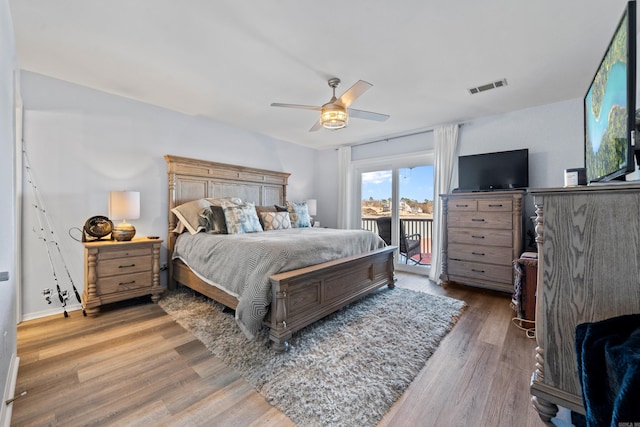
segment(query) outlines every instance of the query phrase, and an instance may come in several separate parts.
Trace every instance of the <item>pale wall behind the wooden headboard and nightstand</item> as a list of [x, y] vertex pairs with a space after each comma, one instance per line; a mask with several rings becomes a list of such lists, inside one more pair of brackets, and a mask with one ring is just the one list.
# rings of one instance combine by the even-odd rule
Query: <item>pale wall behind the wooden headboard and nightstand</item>
[[[186, 116], [122, 97], [22, 73], [24, 141], [31, 175], [53, 224], [71, 278], [83, 290], [83, 246], [69, 236], [94, 215], [107, 215], [111, 190], [140, 191], [141, 218], [130, 221], [138, 236], [167, 236], [168, 184], [164, 154], [291, 173], [289, 200], [316, 197], [317, 151], [202, 118]], [[44, 288], [55, 288], [33, 207], [24, 187], [24, 318], [60, 312], [47, 305]], [[55, 250], [53, 251], [55, 254]], [[162, 262], [166, 262], [162, 252]], [[71, 291], [64, 266], [61, 287]], [[166, 277], [162, 276], [162, 283]], [[77, 306], [75, 298], [69, 300]]]

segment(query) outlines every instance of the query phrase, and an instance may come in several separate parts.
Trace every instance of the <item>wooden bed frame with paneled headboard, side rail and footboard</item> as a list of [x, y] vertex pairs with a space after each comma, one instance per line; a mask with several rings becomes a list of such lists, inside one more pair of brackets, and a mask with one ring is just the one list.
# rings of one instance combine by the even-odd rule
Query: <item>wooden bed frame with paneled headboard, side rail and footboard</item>
[[[166, 155], [169, 175], [169, 261], [177, 235], [174, 207], [196, 199], [239, 197], [256, 205], [283, 205], [288, 173]], [[272, 302], [264, 323], [273, 348], [284, 351], [291, 335], [385, 285], [394, 287], [393, 252], [388, 246], [270, 277]], [[169, 288], [181, 283], [235, 309], [238, 300], [196, 276], [179, 260], [169, 262]]]

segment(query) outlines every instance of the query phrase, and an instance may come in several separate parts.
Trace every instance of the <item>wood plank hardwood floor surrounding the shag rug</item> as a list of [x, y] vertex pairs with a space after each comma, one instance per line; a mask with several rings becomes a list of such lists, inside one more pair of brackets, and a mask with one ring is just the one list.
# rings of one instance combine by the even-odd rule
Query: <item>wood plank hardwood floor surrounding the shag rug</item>
[[[509, 296], [397, 276], [469, 306], [379, 426], [544, 426], [529, 403], [535, 341], [511, 324]], [[293, 425], [147, 301], [20, 324], [16, 393], [27, 395], [11, 425]]]

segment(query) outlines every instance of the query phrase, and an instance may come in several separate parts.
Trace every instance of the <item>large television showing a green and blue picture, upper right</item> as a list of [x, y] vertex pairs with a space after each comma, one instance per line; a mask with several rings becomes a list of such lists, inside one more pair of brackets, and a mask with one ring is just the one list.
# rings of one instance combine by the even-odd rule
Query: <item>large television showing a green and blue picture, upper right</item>
[[584, 97], [587, 181], [624, 180], [635, 170], [636, 3], [630, 1]]

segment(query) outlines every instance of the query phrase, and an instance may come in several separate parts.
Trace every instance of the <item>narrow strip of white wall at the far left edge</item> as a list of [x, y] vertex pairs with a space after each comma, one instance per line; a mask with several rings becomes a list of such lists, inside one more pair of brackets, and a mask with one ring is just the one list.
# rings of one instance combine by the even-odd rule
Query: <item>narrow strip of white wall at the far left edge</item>
[[[16, 369], [16, 208], [14, 158], [14, 70], [16, 68], [13, 23], [7, 0], [0, 0], [0, 271], [9, 280], [0, 282], [0, 425], [8, 421], [9, 407], [4, 404], [12, 394], [10, 384]], [[4, 397], [4, 398], [3, 398]]]

